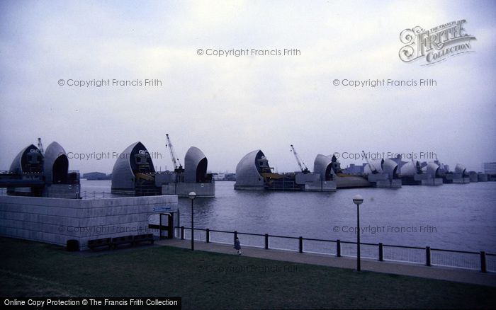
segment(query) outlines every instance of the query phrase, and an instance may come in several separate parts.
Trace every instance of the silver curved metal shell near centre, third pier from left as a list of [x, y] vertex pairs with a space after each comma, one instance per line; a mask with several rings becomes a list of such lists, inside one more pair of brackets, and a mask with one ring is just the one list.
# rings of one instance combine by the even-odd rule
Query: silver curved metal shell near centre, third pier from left
[[261, 176], [261, 168], [258, 164], [260, 159], [266, 159], [264, 153], [257, 149], [251, 151], [237, 163], [236, 184], [237, 186], [264, 186], [264, 178]]

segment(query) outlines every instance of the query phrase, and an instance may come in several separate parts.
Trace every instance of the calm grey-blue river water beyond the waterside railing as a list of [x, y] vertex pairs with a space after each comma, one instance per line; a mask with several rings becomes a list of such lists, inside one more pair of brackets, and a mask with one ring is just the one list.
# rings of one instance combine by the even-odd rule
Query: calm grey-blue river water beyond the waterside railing
[[[334, 193], [239, 191], [215, 184], [215, 198], [195, 200], [195, 227], [356, 241], [361, 194], [361, 240], [402, 246], [496, 252], [496, 182], [361, 188]], [[111, 181], [81, 180], [81, 193], [106, 191]], [[181, 225], [190, 226], [191, 202], [179, 198]]]

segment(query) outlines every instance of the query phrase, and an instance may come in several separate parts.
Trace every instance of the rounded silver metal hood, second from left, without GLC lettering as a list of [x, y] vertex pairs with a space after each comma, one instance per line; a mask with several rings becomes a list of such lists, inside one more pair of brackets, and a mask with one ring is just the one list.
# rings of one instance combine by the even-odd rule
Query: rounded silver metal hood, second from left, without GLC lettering
[[69, 159], [64, 148], [57, 142], [52, 142], [45, 149], [45, 182], [47, 184], [65, 183], [69, 173]]

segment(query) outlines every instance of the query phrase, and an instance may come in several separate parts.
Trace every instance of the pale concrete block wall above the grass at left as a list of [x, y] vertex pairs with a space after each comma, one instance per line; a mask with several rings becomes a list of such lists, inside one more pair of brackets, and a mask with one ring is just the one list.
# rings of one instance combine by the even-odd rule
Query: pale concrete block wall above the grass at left
[[[0, 235], [60, 246], [77, 239], [85, 250], [91, 239], [151, 234], [150, 215], [177, 210], [176, 195], [98, 200], [0, 196]], [[174, 218], [179, 225], [179, 217]]]

